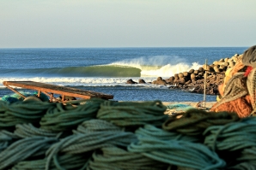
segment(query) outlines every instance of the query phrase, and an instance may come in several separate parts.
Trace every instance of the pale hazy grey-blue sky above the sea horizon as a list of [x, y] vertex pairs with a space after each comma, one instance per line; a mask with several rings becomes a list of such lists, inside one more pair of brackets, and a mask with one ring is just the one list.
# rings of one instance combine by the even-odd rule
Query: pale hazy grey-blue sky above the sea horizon
[[1, 0], [0, 48], [249, 47], [255, 0]]

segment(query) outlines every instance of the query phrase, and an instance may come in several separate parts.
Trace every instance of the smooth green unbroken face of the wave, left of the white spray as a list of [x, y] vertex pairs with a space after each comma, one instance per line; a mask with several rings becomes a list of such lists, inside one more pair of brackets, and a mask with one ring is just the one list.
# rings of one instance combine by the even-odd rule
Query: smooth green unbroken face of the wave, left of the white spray
[[[62, 77], [140, 77], [141, 70], [124, 66], [55, 67], [38, 69], [8, 69], [1, 71], [6, 75], [62, 76]], [[1, 74], [2, 74], [1, 73]]]

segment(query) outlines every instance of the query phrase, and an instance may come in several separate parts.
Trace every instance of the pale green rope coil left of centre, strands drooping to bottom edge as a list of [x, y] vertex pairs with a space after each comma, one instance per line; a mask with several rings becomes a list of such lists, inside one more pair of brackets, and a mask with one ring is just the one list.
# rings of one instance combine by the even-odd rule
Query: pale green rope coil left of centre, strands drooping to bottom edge
[[[121, 132], [117, 130], [108, 132], [107, 129], [110, 126], [113, 126], [110, 129], [114, 129], [115, 126], [107, 122], [102, 123], [102, 121], [104, 122], [104, 120], [97, 121], [101, 123], [101, 125], [97, 126], [90, 126], [93, 123], [97, 123], [95, 120], [85, 121], [81, 125], [82, 128], [77, 127], [78, 131], [75, 131], [75, 134], [61, 139], [56, 144], [52, 144], [51, 148], [46, 151], [46, 170], [50, 169], [52, 161], [54, 161], [56, 167], [60, 169], [64, 168], [58, 161], [58, 155], [88, 154], [95, 149], [101, 149], [109, 145], [127, 147], [129, 144], [137, 141], [137, 137], [132, 132]], [[102, 127], [104, 125], [107, 126], [105, 131], [103, 131], [104, 128]], [[90, 130], [90, 127], [93, 127], [93, 130]]]

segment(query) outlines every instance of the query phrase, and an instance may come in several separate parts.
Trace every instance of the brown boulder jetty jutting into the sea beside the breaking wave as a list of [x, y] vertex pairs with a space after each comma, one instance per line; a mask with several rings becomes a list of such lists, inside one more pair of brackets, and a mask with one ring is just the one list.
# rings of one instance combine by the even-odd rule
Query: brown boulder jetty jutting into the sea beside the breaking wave
[[[206, 76], [206, 94], [218, 95], [217, 87], [222, 84], [225, 72], [229, 67], [234, 67], [235, 62], [242, 55], [235, 54], [230, 58], [222, 58], [219, 61], [213, 62], [209, 65], [203, 65], [198, 70], [191, 69], [188, 72], [175, 73], [168, 79], [158, 77], [151, 84], [154, 85], [168, 85], [170, 89], [180, 89], [183, 91], [191, 91], [195, 93], [204, 93], [204, 78]], [[205, 74], [206, 73], [206, 74]], [[127, 84], [137, 84], [132, 79], [128, 79]], [[139, 79], [139, 83], [145, 83], [143, 79]]]

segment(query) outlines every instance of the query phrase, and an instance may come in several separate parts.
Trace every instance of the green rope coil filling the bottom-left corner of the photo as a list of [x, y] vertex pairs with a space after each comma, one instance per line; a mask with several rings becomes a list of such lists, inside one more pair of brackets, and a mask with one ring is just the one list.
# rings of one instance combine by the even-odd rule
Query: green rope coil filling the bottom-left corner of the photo
[[22, 138], [0, 152], [0, 169], [5, 169], [28, 157], [44, 155], [57, 138]]

